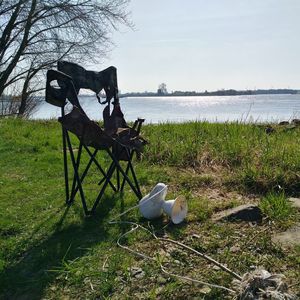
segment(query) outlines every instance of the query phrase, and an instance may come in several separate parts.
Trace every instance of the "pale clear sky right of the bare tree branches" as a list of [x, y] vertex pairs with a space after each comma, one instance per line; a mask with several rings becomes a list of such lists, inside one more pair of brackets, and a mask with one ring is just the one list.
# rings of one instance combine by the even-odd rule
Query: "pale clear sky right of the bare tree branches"
[[101, 67], [122, 92], [300, 88], [300, 0], [132, 0]]

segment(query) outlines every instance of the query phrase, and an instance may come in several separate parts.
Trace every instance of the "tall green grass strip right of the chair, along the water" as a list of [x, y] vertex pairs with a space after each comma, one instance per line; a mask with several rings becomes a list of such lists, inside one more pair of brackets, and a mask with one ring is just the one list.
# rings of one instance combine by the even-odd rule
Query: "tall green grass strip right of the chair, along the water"
[[145, 153], [150, 164], [196, 169], [217, 165], [234, 173], [228, 185], [256, 193], [278, 186], [290, 194], [300, 192], [298, 128], [278, 127], [268, 135], [264, 126], [194, 122], [148, 126], [145, 135], [151, 141]]

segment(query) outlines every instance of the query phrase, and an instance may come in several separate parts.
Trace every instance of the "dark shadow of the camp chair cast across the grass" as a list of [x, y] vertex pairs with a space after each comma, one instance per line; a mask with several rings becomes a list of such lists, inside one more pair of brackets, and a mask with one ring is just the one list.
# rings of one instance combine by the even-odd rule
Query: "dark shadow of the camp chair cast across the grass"
[[[66, 217], [70, 207], [58, 208], [56, 212], [43, 220], [36, 230], [23, 240], [18, 248], [31, 245], [18, 259], [18, 249], [14, 259], [18, 261], [0, 273], [1, 299], [41, 299], [44, 290], [57, 277], [50, 270], [59, 268], [64, 261], [83, 257], [89, 249], [102, 241], [110, 240], [107, 215], [120, 200], [119, 195], [105, 197], [99, 204], [97, 212], [91, 217], [84, 217], [81, 207], [72, 206], [75, 214], [80, 214], [79, 222], [68, 224]], [[121, 199], [122, 200], [122, 199]], [[121, 205], [123, 207], [123, 205]], [[60, 217], [57, 215], [61, 214]], [[58, 221], [54, 221], [58, 218]], [[81, 220], [80, 220], [81, 219]], [[46, 239], [36, 238], [46, 223], [54, 222], [52, 234]], [[68, 220], [70, 222], [70, 220]], [[78, 219], [77, 219], [78, 221]], [[66, 224], [64, 224], [66, 223]]]

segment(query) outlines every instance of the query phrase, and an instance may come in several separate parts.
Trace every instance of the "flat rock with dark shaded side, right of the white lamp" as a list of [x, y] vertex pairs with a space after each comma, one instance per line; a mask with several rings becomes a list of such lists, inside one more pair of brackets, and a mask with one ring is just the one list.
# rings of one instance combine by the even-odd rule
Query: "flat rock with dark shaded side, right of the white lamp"
[[253, 204], [244, 204], [235, 208], [221, 211], [213, 216], [213, 221], [246, 221], [261, 222], [262, 212], [260, 208]]

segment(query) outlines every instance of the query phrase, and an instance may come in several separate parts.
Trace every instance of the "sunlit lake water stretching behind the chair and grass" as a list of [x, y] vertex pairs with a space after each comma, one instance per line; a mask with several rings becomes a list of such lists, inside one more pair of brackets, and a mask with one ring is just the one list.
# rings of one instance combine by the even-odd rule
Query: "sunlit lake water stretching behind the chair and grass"
[[[101, 120], [104, 106], [94, 96], [80, 96], [91, 119]], [[300, 94], [208, 97], [130, 97], [120, 99], [127, 121], [137, 117], [147, 123], [184, 122], [278, 122], [300, 118]], [[60, 108], [42, 102], [33, 119], [60, 116]]]

